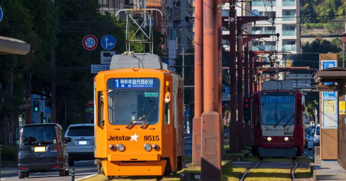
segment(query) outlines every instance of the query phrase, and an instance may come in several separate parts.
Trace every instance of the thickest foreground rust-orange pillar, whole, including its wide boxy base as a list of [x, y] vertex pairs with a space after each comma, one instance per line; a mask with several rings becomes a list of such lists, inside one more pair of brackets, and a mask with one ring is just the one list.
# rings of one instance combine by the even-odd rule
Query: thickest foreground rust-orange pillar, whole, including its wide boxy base
[[217, 3], [216, 0], [203, 0], [202, 180], [221, 180]]

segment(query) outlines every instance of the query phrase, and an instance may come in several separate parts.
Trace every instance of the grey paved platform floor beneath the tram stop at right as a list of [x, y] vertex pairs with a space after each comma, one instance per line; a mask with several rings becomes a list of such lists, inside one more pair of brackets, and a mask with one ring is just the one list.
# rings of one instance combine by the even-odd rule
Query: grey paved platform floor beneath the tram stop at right
[[332, 181], [332, 180], [345, 180], [346, 170], [340, 167], [339, 164], [318, 164], [312, 163], [314, 172], [316, 173], [316, 180]]

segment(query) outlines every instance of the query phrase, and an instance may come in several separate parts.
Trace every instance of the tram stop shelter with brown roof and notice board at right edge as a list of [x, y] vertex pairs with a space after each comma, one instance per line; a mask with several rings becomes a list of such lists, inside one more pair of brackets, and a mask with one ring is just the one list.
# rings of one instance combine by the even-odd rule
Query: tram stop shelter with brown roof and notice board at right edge
[[[337, 60], [337, 58], [331, 58], [331, 60], [333, 59]], [[317, 91], [320, 91], [320, 159], [322, 163], [339, 162], [346, 169], [346, 68], [331, 67], [322, 69], [316, 72], [314, 80], [319, 83]], [[335, 84], [322, 85], [330, 82]], [[322, 90], [318, 90], [319, 87], [323, 87]], [[335, 99], [323, 98], [328, 94], [323, 95], [327, 91], [329, 91], [329, 94], [335, 91]]]

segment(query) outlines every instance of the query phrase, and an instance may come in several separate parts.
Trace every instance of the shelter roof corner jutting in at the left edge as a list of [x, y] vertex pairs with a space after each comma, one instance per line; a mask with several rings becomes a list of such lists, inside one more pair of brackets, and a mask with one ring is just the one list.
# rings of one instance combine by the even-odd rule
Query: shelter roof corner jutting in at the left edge
[[10, 37], [0, 36], [0, 55], [26, 55], [30, 51], [30, 44]]

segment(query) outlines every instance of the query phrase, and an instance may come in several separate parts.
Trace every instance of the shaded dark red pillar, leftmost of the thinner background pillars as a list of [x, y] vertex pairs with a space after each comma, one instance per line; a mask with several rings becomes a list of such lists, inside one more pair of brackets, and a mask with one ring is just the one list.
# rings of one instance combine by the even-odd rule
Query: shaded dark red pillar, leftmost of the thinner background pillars
[[229, 93], [230, 93], [230, 122], [229, 122], [229, 151], [239, 151], [237, 100], [236, 100], [236, 10], [235, 0], [231, 0], [229, 7]]

